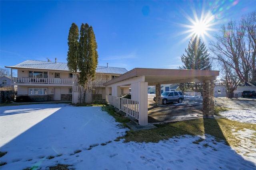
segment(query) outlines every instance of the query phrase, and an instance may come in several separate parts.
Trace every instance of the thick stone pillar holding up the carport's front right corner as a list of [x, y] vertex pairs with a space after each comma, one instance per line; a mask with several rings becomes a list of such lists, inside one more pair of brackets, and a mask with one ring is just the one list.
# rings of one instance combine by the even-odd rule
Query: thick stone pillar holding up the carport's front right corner
[[214, 115], [214, 81], [204, 80], [203, 82], [203, 116]]

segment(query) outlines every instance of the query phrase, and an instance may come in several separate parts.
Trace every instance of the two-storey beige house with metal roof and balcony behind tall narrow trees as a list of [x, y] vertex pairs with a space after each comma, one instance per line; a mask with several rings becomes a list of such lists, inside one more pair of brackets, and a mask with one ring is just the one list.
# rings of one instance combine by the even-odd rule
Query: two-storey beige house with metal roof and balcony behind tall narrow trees
[[[11, 84], [18, 86], [17, 96], [30, 96], [45, 101], [78, 101], [78, 84], [74, 83], [78, 81], [75, 74], [69, 71], [67, 63], [27, 60], [6, 68], [11, 68], [11, 74], [12, 70], [17, 70], [17, 77], [11, 75]], [[104, 100], [106, 95], [103, 83], [125, 72], [125, 68], [98, 66], [96, 80], [89, 83], [92, 94], [90, 98]], [[129, 93], [129, 88], [120, 90]]]

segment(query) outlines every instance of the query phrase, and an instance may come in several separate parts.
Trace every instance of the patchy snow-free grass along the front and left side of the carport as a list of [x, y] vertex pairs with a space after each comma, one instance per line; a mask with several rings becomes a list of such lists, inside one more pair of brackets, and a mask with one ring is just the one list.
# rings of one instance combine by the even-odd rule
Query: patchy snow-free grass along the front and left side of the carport
[[[214, 114], [218, 115], [220, 111], [227, 111], [229, 108], [215, 107]], [[118, 114], [114, 109], [107, 109], [108, 113], [112, 115], [116, 121], [123, 123], [129, 122], [130, 119], [124, 117], [124, 115]], [[242, 143], [238, 139], [234, 132], [242, 131], [244, 129], [251, 129], [256, 131], [256, 124], [252, 123], [240, 123], [238, 121], [232, 121], [226, 118], [221, 119], [193, 119], [187, 121], [179, 121], [170, 124], [159, 124], [155, 125], [156, 129], [146, 129], [140, 131], [130, 131], [126, 132], [124, 137], [119, 137], [114, 141], [119, 141], [120, 139], [125, 139], [125, 142], [136, 141], [136, 142], [154, 142], [157, 143], [160, 140], [168, 140], [173, 137], [182, 137], [182, 135], [204, 135], [209, 134], [214, 136], [216, 142], [224, 141], [226, 145], [238, 146]], [[256, 137], [251, 138], [252, 143], [256, 141]], [[200, 141], [196, 141], [199, 143]], [[214, 142], [214, 144], [216, 144]]]

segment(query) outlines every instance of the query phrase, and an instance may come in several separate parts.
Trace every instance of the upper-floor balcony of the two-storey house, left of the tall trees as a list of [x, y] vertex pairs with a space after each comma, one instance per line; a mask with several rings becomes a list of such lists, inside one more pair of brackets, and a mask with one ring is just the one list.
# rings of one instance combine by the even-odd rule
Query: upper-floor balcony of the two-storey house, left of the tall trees
[[73, 80], [70, 78], [31, 78], [31, 77], [12, 77], [12, 83], [15, 85], [29, 86], [37, 84], [38, 86], [49, 86], [52, 85], [64, 85], [72, 86]]

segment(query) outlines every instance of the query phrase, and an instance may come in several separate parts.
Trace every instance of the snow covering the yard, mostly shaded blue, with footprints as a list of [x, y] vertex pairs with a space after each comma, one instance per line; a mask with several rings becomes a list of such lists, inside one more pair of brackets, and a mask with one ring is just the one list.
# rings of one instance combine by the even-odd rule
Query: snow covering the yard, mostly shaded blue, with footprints
[[[214, 137], [174, 137], [158, 143], [115, 141], [129, 129], [122, 128], [101, 107], [68, 104], [34, 104], [0, 108], [1, 170], [49, 169], [57, 164], [76, 170], [256, 170], [256, 146], [238, 154]], [[221, 113], [228, 119], [256, 123], [255, 110]], [[255, 136], [245, 129], [234, 135]], [[193, 143], [203, 138], [199, 144]], [[247, 148], [248, 149], [248, 148]], [[38, 168], [36, 168], [38, 167]], [[71, 168], [71, 167], [70, 167]]]

